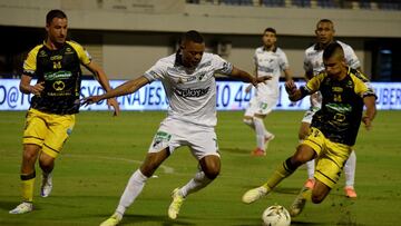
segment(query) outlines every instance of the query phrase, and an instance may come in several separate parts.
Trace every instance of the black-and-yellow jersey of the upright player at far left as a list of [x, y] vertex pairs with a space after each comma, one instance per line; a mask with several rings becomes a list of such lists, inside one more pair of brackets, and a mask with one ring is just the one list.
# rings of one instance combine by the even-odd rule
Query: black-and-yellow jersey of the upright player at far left
[[79, 43], [66, 41], [62, 48], [51, 50], [38, 45], [23, 62], [23, 73], [45, 82], [40, 96], [33, 96], [31, 108], [58, 115], [79, 111], [81, 70], [80, 63], [91, 61], [89, 53]]

